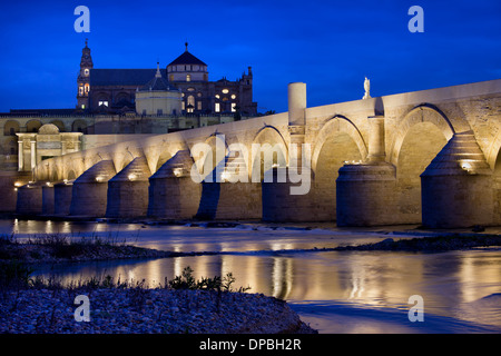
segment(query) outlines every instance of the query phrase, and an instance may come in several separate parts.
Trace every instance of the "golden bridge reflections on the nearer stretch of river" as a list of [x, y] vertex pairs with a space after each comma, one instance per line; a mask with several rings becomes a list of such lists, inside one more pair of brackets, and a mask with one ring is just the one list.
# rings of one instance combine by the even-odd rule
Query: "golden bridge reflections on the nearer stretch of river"
[[469, 304], [501, 291], [500, 251], [222, 255], [52, 266], [37, 274], [63, 281], [111, 275], [116, 280], [146, 279], [157, 286], [187, 266], [197, 278], [230, 271], [235, 287], [249, 285], [250, 293], [296, 301], [336, 300], [407, 310], [409, 297], [418, 294], [426, 313], [501, 326], [499, 305], [485, 319]]

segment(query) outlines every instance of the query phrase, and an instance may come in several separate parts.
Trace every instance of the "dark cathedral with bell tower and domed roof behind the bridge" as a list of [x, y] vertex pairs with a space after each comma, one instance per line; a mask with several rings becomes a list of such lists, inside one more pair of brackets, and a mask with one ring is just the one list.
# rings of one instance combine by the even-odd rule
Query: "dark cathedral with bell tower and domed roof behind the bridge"
[[[175, 93], [179, 92], [179, 107], [170, 102], [164, 110], [151, 102], [138, 105], [137, 99], [145, 100], [144, 92], [153, 80], [157, 87], [168, 88], [169, 97], [177, 97]], [[86, 41], [77, 82], [77, 109], [90, 113], [257, 115], [257, 102], [253, 101], [252, 68], [248, 67], [248, 71], [235, 81], [226, 78], [209, 81], [207, 65], [188, 51], [188, 43], [165, 69], [100, 69], [94, 68]], [[158, 99], [150, 96], [154, 98]]]

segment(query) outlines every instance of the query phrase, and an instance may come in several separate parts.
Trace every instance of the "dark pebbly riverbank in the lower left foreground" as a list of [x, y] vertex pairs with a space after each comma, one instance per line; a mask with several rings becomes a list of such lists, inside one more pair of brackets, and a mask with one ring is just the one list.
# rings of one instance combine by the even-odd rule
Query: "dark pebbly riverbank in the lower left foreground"
[[[77, 295], [89, 298], [90, 322], [76, 322]], [[99, 288], [0, 293], [0, 333], [276, 334], [316, 332], [289, 306], [262, 294]]]

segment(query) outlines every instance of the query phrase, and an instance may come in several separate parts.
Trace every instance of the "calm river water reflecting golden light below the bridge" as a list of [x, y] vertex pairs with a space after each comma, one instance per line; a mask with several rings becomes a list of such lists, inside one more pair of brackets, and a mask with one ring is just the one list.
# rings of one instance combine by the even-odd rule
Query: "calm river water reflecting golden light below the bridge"
[[[187, 266], [197, 278], [233, 273], [235, 287], [250, 286], [287, 300], [320, 333], [500, 333], [501, 249], [446, 253], [322, 251], [415, 234], [337, 229], [320, 225], [235, 227], [0, 220], [0, 234], [19, 239], [41, 234], [100, 236], [175, 251], [224, 255], [40, 266], [33, 275], [62, 281], [111, 275], [146, 279], [155, 287]], [[304, 251], [303, 249], [314, 249]], [[279, 253], [277, 253], [281, 250]], [[287, 251], [283, 251], [287, 250]], [[423, 301], [424, 322], [411, 322], [411, 296]]]

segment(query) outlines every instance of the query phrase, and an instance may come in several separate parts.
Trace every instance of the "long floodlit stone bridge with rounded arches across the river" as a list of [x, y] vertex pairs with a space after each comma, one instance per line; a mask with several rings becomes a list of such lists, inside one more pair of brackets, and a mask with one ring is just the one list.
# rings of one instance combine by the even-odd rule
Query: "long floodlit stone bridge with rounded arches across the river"
[[[249, 182], [228, 177], [194, 181], [194, 162], [207, 164], [204, 157], [210, 157], [196, 149], [200, 142], [215, 152], [206, 178], [234, 172], [229, 168], [242, 160], [239, 174], [245, 171]], [[234, 144], [247, 149], [235, 154]], [[253, 144], [261, 149], [253, 150]], [[310, 151], [302, 152], [302, 144]], [[292, 155], [296, 147], [299, 154]], [[18, 189], [17, 212], [338, 226], [499, 225], [500, 147], [501, 80], [312, 108], [306, 107], [306, 85], [296, 82], [288, 86], [287, 112], [46, 159], [35, 168], [36, 181]], [[302, 182], [287, 175], [297, 161], [311, 177], [303, 195], [291, 194]], [[200, 172], [200, 165], [196, 169]], [[263, 181], [265, 172], [268, 178], [285, 172], [286, 180]], [[256, 176], [257, 181], [250, 179]]]

